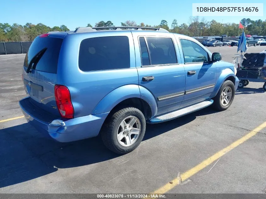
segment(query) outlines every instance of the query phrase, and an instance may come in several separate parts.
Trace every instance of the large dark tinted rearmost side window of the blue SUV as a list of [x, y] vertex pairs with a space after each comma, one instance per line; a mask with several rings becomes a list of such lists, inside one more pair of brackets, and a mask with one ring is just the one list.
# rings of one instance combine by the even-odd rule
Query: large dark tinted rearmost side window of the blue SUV
[[79, 68], [82, 71], [130, 68], [127, 36], [95, 37], [80, 44]]

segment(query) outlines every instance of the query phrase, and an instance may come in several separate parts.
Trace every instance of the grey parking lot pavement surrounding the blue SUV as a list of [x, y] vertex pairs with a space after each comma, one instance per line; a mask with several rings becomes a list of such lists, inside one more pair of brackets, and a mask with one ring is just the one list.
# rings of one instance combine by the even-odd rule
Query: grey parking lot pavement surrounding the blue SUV
[[[237, 47], [208, 49], [231, 63], [237, 54]], [[238, 89], [226, 111], [205, 108], [147, 124], [141, 145], [117, 155], [99, 137], [55, 142], [20, 117], [24, 57], [0, 56], [0, 193], [265, 193], [263, 83]]]

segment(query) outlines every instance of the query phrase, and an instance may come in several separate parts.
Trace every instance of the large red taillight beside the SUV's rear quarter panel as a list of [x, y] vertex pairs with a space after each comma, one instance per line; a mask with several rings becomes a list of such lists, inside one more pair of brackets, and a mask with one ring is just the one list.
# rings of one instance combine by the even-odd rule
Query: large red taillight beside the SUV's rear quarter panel
[[62, 85], [55, 85], [54, 97], [60, 115], [63, 118], [74, 118], [74, 109], [68, 88]]

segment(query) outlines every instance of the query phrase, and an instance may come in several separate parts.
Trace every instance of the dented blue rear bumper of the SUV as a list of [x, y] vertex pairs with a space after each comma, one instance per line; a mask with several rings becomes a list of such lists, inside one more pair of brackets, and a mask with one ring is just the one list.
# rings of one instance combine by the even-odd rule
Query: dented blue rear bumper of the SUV
[[59, 142], [71, 142], [97, 136], [108, 115], [108, 113], [100, 113], [68, 120], [58, 118], [51, 122], [44, 122], [33, 116], [31, 114], [31, 107], [23, 103], [28, 98], [25, 97], [19, 102], [27, 122], [41, 133], [50, 135], [50, 137]]

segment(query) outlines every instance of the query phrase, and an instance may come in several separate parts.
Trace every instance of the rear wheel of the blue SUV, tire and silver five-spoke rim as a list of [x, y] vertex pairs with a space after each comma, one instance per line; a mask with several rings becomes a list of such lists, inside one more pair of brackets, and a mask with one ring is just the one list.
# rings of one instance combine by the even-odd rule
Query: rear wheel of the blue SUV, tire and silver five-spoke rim
[[114, 113], [101, 130], [105, 146], [118, 154], [133, 151], [139, 146], [146, 130], [143, 113], [133, 107], [123, 108]]

